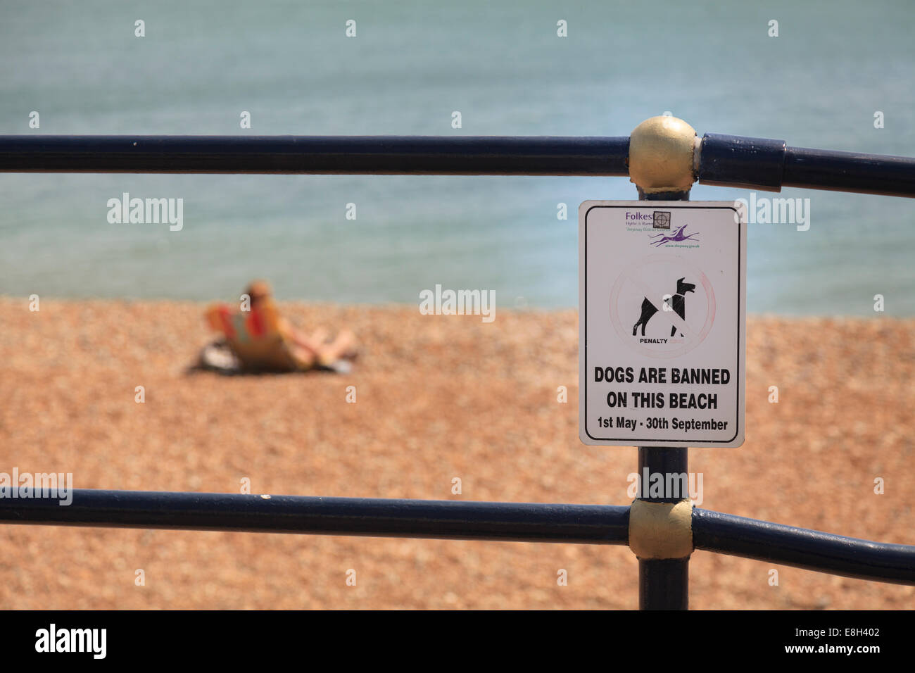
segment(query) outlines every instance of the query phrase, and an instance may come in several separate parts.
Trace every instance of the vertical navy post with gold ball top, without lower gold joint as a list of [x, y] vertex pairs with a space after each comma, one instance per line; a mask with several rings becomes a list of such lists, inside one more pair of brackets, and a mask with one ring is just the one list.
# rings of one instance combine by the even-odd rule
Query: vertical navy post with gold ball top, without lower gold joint
[[[630, 137], [630, 179], [639, 190], [639, 201], [689, 201], [694, 179], [693, 154], [686, 166], [673, 157], [671, 148], [683, 151], [684, 138], [690, 144], [695, 136], [690, 125], [669, 117], [654, 118], [640, 125]], [[641, 132], [641, 133], [640, 133]], [[640, 135], [637, 138], [637, 134]], [[678, 147], [679, 146], [679, 147]], [[689, 147], [690, 150], [693, 147]], [[634, 152], [639, 156], [634, 156]], [[633, 167], [633, 162], [638, 165]], [[673, 167], [673, 168], [672, 168]], [[633, 168], [635, 170], [633, 171]], [[649, 503], [676, 503], [682, 497], [651, 497], [644, 474], [660, 473], [663, 483], [672, 483], [667, 474], [687, 473], [687, 448], [639, 447], [641, 488], [637, 500]], [[675, 483], [675, 480], [673, 480]], [[689, 557], [684, 559], [639, 559], [639, 609], [686, 610], [689, 607]]]

